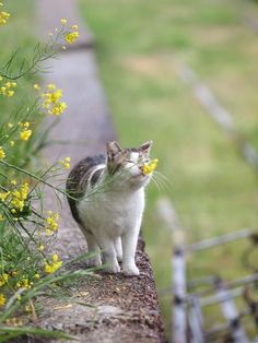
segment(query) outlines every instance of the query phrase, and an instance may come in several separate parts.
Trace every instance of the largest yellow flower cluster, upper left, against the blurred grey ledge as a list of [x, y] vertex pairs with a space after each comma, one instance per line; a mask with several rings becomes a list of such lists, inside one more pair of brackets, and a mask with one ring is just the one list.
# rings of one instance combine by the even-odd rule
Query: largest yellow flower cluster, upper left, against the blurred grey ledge
[[44, 92], [42, 97], [44, 98], [43, 107], [47, 109], [49, 115], [60, 116], [67, 108], [67, 104], [60, 102], [62, 90], [58, 90], [54, 83], [47, 85], [47, 92]]

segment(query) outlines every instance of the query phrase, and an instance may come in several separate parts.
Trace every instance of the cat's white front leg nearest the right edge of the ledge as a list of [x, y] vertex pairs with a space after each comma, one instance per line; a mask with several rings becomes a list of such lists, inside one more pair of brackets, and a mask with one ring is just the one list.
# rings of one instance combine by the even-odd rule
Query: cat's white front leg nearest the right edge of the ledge
[[136, 265], [136, 250], [138, 236], [140, 232], [140, 222], [131, 229], [124, 233], [122, 243], [122, 271], [125, 275], [139, 275], [139, 269]]

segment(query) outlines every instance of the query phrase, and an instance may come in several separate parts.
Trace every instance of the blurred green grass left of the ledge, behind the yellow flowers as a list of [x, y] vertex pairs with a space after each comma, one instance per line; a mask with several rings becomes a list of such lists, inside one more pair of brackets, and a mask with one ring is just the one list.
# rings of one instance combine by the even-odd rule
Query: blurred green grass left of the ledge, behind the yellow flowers
[[[0, 51], [0, 67], [2, 71], [3, 67], [7, 66], [13, 57], [9, 73], [19, 74], [21, 64], [24, 60], [26, 63], [30, 62], [33, 56], [33, 49], [37, 44], [34, 32], [32, 32], [32, 27], [34, 26], [32, 22], [34, 2], [32, 0], [22, 2], [10, 0], [4, 3], [3, 10], [11, 13], [11, 17], [7, 25], [0, 26], [0, 39], [4, 42], [4, 49]], [[14, 80], [17, 83], [14, 90], [14, 96], [1, 96], [0, 128], [5, 130], [8, 122], [24, 121], [28, 120], [28, 118], [33, 126], [36, 125], [37, 120], [33, 119], [33, 117], [38, 119], [38, 114], [36, 114], [36, 108], [33, 108], [33, 103], [35, 102], [33, 84], [38, 81], [38, 74], [26, 74], [24, 78]], [[1, 83], [3, 82], [4, 81]], [[12, 132], [9, 134], [11, 135], [11, 133]], [[2, 130], [0, 134], [3, 134]], [[26, 142], [26, 144], [24, 142], [11, 149], [12, 162], [22, 166], [33, 158], [31, 153], [35, 138], [34, 134], [33, 139]], [[12, 138], [12, 140], [14, 140], [14, 138]]]

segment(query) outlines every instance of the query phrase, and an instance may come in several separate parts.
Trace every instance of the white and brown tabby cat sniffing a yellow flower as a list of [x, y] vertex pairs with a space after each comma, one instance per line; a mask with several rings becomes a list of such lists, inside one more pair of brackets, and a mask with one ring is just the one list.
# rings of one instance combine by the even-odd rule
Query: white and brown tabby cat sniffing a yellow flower
[[[90, 265], [125, 275], [139, 275], [134, 262], [138, 236], [144, 210], [144, 188], [152, 173], [143, 173], [150, 162], [152, 141], [133, 149], [121, 149], [107, 142], [106, 156], [79, 162], [67, 179], [68, 202], [83, 232]], [[99, 253], [99, 249], [102, 255]]]

